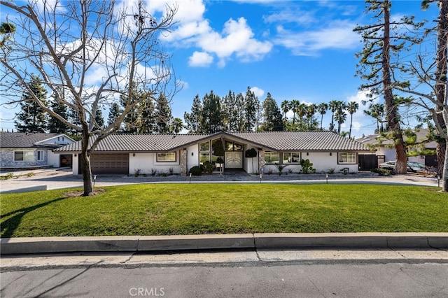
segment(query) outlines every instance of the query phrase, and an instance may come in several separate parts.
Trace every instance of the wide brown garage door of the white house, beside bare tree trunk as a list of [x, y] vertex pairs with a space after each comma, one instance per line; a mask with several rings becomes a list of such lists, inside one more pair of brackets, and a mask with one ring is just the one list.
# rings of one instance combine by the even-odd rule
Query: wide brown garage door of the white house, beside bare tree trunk
[[[79, 160], [79, 173], [82, 173], [80, 164]], [[92, 167], [93, 175], [127, 174], [129, 173], [129, 154], [92, 154], [90, 156], [90, 166]]]

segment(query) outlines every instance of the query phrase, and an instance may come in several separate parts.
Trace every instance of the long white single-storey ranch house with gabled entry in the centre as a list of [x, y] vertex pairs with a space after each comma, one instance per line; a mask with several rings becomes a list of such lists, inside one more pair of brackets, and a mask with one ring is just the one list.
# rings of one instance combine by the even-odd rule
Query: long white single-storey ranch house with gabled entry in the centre
[[[309, 159], [317, 172], [358, 171], [358, 153], [370, 150], [361, 143], [333, 132], [218, 132], [216, 134], [112, 134], [102, 140], [91, 155], [93, 174], [181, 173], [193, 166], [215, 163], [217, 142], [225, 149], [224, 169], [242, 169], [258, 173], [276, 171], [276, 164], [288, 164], [286, 170], [300, 171], [300, 159]], [[254, 148], [257, 157], [245, 157]], [[80, 141], [55, 152], [73, 155], [73, 174], [80, 171]], [[218, 170], [218, 164], [216, 164]]]

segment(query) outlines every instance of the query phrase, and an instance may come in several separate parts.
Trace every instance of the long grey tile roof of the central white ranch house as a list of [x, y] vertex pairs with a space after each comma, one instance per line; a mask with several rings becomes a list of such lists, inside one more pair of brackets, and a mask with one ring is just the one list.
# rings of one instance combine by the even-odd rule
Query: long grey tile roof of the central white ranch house
[[[111, 134], [102, 140], [95, 151], [169, 151], [177, 150], [204, 139], [216, 137], [236, 138], [272, 150], [369, 151], [361, 143], [332, 132], [219, 132], [216, 134]], [[92, 139], [91, 139], [92, 141]], [[80, 151], [80, 141], [55, 150], [57, 152]]]

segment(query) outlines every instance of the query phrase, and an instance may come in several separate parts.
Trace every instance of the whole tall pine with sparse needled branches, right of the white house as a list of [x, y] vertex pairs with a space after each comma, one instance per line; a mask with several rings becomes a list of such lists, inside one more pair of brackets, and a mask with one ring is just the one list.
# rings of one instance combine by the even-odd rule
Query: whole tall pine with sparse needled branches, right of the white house
[[[394, 64], [392, 54], [408, 50], [411, 45], [419, 43], [418, 38], [405, 36], [404, 32], [416, 31], [423, 23], [415, 23], [414, 17], [402, 17], [391, 21], [391, 2], [388, 0], [366, 0], [367, 12], [374, 13], [374, 24], [358, 26], [353, 31], [363, 36], [364, 48], [356, 57], [360, 58], [356, 74], [366, 81], [362, 89], [371, 90], [373, 94], [382, 94], [386, 106], [386, 115], [391, 136], [395, 143], [396, 173], [407, 172], [405, 143], [400, 128], [400, 114], [394, 101], [392, 71], [402, 65]], [[405, 27], [406, 30], [401, 30]], [[398, 30], [393, 30], [394, 28]]]

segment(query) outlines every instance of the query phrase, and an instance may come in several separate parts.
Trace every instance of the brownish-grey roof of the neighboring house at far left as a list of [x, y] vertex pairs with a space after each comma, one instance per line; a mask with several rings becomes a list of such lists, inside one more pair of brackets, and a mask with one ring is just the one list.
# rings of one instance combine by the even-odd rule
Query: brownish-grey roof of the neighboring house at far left
[[48, 147], [49, 144], [36, 143], [46, 139], [60, 136], [61, 134], [51, 133], [43, 134], [36, 132], [0, 132], [0, 147], [1, 148], [33, 148], [33, 147]]

